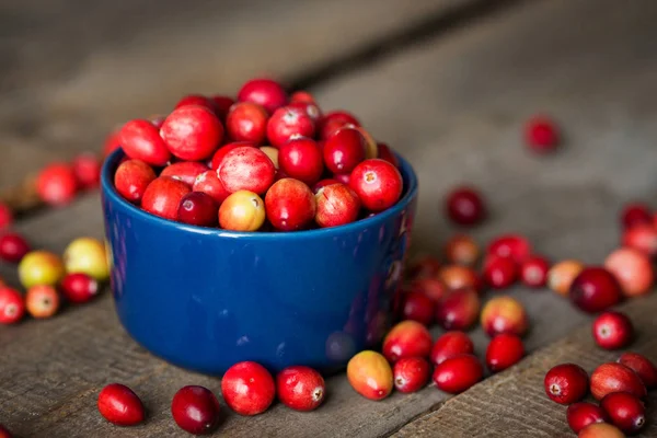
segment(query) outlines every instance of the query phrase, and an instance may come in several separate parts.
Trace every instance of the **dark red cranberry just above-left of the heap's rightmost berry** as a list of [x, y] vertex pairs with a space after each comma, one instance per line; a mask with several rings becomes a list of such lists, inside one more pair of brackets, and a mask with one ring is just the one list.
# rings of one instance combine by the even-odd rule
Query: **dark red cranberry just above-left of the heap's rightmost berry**
[[326, 139], [324, 162], [333, 173], [349, 173], [365, 160], [365, 138], [355, 128], [343, 128]]

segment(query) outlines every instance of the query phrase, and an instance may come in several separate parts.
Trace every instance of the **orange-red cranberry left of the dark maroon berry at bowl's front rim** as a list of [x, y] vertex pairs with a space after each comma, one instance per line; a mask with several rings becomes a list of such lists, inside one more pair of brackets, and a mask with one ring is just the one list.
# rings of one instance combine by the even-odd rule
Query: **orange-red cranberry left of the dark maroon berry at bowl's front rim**
[[189, 192], [192, 192], [189, 186], [182, 181], [170, 176], [160, 176], [153, 180], [143, 192], [141, 207], [151, 215], [176, 220], [181, 200]]

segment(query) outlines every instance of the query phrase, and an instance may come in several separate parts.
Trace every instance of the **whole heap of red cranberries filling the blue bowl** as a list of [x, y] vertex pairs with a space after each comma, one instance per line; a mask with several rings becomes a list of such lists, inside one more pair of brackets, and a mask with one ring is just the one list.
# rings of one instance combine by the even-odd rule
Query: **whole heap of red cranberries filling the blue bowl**
[[337, 227], [392, 207], [396, 157], [345, 111], [268, 79], [233, 101], [187, 95], [165, 117], [126, 123], [116, 191], [152, 215], [234, 231]]

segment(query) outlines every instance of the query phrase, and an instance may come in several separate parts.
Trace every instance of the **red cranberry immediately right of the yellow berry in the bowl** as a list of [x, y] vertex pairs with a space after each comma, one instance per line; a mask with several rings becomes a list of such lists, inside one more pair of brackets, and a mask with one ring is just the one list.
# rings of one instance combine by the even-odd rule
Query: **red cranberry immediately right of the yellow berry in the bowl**
[[265, 211], [272, 224], [283, 231], [295, 231], [309, 224], [316, 212], [310, 188], [295, 178], [274, 183], [265, 196]]

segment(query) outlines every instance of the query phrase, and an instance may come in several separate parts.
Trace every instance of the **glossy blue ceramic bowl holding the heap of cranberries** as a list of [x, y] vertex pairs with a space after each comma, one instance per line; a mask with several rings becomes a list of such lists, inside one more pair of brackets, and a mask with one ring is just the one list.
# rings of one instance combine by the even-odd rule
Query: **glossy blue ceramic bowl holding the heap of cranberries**
[[417, 180], [392, 208], [343, 227], [233, 232], [161, 219], [114, 189], [102, 197], [116, 312], [154, 355], [221, 374], [241, 360], [330, 371], [381, 341], [410, 244]]

